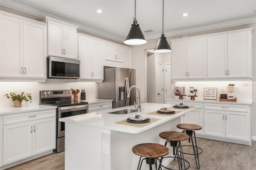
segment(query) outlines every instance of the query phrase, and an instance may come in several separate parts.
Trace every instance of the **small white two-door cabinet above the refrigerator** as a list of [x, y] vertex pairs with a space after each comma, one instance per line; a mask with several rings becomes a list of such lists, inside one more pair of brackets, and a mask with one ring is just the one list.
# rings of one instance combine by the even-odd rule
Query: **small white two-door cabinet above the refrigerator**
[[105, 59], [124, 63], [125, 48], [110, 43], [105, 44]]

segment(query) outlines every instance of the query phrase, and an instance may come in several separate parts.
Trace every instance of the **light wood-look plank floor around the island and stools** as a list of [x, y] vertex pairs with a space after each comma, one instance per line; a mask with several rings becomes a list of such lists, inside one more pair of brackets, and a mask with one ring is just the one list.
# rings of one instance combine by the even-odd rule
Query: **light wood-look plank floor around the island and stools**
[[[203, 153], [199, 156], [200, 169], [256, 170], [255, 140], [252, 141], [252, 146], [247, 146], [204, 138], [196, 139], [198, 147], [203, 150]], [[182, 144], [188, 144], [188, 140], [183, 141]], [[191, 148], [184, 147], [183, 152], [190, 153], [190, 150]], [[191, 152], [193, 151], [191, 150]], [[8, 168], [7, 170], [64, 170], [64, 156], [65, 152], [52, 153]], [[184, 158], [190, 162], [189, 170], [197, 170], [193, 155], [184, 154]], [[178, 169], [178, 163], [172, 161], [167, 167]], [[134, 167], [134, 169], [136, 168]]]

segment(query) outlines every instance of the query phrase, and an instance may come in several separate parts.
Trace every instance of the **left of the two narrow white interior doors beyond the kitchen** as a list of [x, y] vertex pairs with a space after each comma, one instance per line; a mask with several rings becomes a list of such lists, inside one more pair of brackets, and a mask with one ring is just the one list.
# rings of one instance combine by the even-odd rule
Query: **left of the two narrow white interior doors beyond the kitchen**
[[164, 65], [157, 63], [156, 67], [156, 93], [157, 103], [164, 103]]

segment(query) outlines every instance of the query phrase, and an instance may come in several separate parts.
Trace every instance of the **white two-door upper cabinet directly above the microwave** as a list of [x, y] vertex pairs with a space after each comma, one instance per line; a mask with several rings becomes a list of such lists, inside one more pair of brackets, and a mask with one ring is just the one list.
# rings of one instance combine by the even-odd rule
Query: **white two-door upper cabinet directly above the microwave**
[[48, 55], [78, 58], [77, 26], [49, 17], [38, 19], [47, 23]]

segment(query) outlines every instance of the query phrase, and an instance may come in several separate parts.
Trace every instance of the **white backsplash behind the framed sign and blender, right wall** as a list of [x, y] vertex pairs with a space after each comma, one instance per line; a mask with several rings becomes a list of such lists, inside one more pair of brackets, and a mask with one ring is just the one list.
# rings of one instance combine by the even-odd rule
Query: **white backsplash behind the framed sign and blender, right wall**
[[[216, 87], [217, 88], [217, 99], [220, 97], [220, 94], [227, 94], [227, 86], [229, 84], [234, 84], [235, 88], [238, 88], [239, 92], [235, 92], [234, 95], [238, 101], [248, 101], [252, 102], [252, 81], [184, 81], [184, 82], [175, 82], [175, 86], [185, 86], [185, 95], [189, 95], [189, 88], [194, 87], [197, 89], [198, 97], [195, 97], [195, 100], [204, 99], [204, 88], [205, 87]], [[221, 89], [224, 89], [224, 92], [221, 92]], [[172, 94], [172, 96], [174, 96]], [[179, 98], [176, 96], [176, 98]], [[184, 99], [190, 99], [188, 96], [184, 96]]]

